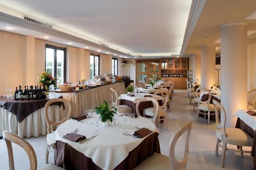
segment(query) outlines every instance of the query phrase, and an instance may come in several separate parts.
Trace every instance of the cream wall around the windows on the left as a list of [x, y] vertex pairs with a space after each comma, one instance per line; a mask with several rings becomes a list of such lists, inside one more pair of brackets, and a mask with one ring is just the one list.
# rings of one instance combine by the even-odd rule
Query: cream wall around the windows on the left
[[[37, 85], [37, 77], [45, 69], [46, 44], [67, 48], [66, 81], [77, 83], [80, 79], [90, 79], [90, 54], [95, 52], [0, 31], [0, 59], [3, 61], [0, 62], [0, 96], [7, 88]], [[100, 55], [100, 74], [110, 72], [112, 56], [96, 54]]]

